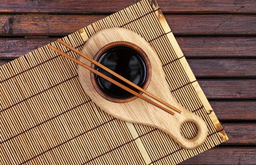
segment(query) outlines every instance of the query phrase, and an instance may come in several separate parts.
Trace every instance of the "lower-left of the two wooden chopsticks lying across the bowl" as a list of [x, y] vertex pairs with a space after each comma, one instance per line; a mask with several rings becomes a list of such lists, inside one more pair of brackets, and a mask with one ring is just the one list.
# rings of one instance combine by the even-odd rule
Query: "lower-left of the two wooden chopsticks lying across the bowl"
[[70, 59], [74, 63], [77, 63], [78, 65], [81, 65], [82, 67], [85, 67], [90, 72], [93, 72], [94, 74], [104, 78], [105, 80], [108, 80], [110, 83], [113, 83], [114, 85], [117, 85], [118, 87], [124, 89], [125, 91], [128, 91], [129, 93], [137, 96], [138, 98], [141, 98], [142, 100], [145, 100], [146, 102], [149, 102], [150, 104], [153, 104], [154, 106], [162, 109], [163, 111], [166, 111], [167, 113], [170, 113], [171, 115], [174, 115], [174, 113], [172, 111], [169, 111], [168, 109], [162, 107], [160, 104], [157, 104], [156, 102], [153, 102], [152, 100], [149, 100], [149, 98], [146, 98], [145, 96], [142, 96], [141, 94], [138, 94], [136, 91], [133, 91], [132, 89], [129, 89], [125, 85], [122, 85], [121, 83], [118, 83], [116, 80], [113, 80], [112, 78], [109, 78], [105, 74], [102, 74], [102, 73], [98, 72], [96, 69], [94, 69], [92, 67], [89, 67], [85, 63], [82, 63], [81, 61], [78, 61], [76, 58], [73, 58], [72, 56], [69, 56], [68, 54], [65, 54], [61, 50], [58, 50], [56, 47], [53, 47], [52, 45], [48, 45], [48, 47], [51, 50], [54, 50], [55, 52], [57, 52], [58, 54], [61, 54], [61, 55], [65, 56], [66, 58]]

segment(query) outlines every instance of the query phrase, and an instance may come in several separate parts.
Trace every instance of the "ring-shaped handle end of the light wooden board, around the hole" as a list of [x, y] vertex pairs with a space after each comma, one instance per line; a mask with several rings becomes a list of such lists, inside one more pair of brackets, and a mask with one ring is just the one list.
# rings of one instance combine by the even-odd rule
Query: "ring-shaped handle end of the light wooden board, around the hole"
[[[175, 138], [175, 141], [186, 149], [198, 148], [198, 146], [201, 146], [204, 143], [208, 134], [206, 123], [198, 115], [195, 115], [190, 111], [187, 111], [186, 113], [190, 113], [189, 118], [183, 118], [184, 120], [180, 122], [180, 126], [177, 126], [177, 138]], [[181, 126], [184, 122], [193, 122], [197, 127], [198, 133], [193, 139], [187, 139], [181, 134]]]

